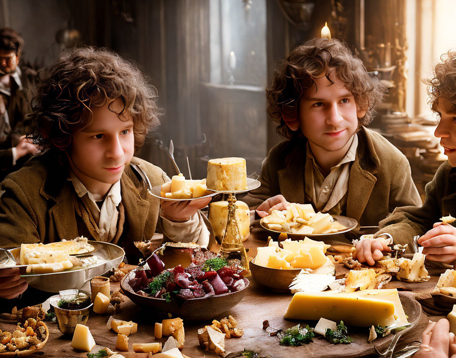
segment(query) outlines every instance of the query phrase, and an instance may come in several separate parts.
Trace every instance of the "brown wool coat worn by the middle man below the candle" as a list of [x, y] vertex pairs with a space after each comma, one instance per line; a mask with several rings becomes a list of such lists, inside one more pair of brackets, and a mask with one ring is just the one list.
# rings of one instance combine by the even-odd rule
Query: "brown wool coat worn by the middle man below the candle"
[[[382, 135], [362, 127], [351, 165], [347, 210], [361, 226], [377, 226], [397, 206], [421, 205], [407, 158]], [[290, 202], [308, 203], [305, 197], [304, 166], [306, 140], [282, 141], [263, 162], [261, 187], [244, 199], [257, 207], [267, 198], [282, 194]]]

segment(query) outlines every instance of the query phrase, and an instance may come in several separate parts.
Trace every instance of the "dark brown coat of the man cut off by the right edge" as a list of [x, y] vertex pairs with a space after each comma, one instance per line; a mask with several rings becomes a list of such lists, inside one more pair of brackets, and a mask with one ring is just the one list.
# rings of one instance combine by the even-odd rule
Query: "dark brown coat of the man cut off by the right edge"
[[[442, 216], [456, 217], [456, 168], [442, 163], [431, 182], [426, 185], [426, 198], [420, 207], [398, 207], [390, 217], [380, 222], [380, 231], [389, 232], [398, 244], [409, 244], [413, 236], [423, 235], [440, 222]], [[455, 226], [455, 223], [451, 225]]]

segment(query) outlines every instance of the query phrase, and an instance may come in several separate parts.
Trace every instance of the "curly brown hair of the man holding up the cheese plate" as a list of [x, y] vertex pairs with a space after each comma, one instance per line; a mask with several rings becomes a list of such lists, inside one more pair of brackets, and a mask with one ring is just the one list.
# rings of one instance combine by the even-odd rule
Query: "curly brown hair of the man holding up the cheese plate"
[[32, 103], [34, 142], [43, 148], [67, 150], [72, 133], [92, 122], [91, 108], [121, 99], [133, 119], [135, 150], [159, 124], [157, 91], [135, 66], [104, 48], [80, 47], [63, 52], [39, 73]]

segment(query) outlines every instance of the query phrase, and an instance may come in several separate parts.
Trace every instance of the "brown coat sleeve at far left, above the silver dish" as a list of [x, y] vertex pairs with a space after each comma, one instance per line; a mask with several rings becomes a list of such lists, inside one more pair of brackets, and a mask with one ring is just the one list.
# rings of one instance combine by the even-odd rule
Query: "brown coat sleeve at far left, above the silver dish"
[[0, 246], [12, 249], [23, 243], [39, 243], [38, 219], [29, 198], [9, 178], [2, 182], [0, 191]]

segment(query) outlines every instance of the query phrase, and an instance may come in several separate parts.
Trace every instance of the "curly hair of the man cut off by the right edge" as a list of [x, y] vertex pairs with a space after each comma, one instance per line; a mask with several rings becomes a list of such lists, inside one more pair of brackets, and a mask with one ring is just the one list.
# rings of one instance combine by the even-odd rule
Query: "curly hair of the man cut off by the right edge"
[[446, 100], [456, 110], [456, 51], [449, 50], [440, 56], [441, 63], [434, 69], [433, 77], [425, 79], [429, 104], [437, 112], [439, 98]]

